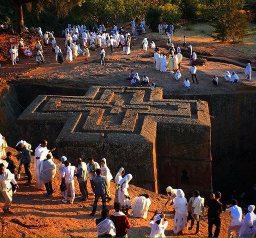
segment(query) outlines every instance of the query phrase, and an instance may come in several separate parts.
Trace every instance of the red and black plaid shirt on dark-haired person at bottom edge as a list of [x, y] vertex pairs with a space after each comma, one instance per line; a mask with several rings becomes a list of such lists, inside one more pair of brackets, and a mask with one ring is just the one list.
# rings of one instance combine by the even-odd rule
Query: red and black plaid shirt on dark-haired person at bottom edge
[[127, 234], [127, 229], [131, 227], [130, 221], [126, 215], [124, 216], [110, 216], [116, 227], [116, 237], [124, 237]]

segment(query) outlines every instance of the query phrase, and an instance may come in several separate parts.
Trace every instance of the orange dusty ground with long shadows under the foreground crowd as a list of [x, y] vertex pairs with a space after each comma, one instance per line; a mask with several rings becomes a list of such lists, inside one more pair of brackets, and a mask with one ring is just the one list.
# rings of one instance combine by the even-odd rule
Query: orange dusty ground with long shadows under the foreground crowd
[[[14, 151], [9, 148], [9, 150]], [[58, 161], [56, 161], [58, 164]], [[111, 168], [110, 168], [111, 169]], [[31, 170], [34, 171], [34, 164], [32, 163]], [[23, 169], [24, 172], [24, 169]], [[34, 174], [34, 173], [33, 173]], [[113, 172], [114, 174], [114, 172]], [[80, 202], [80, 193], [78, 183], [76, 182], [76, 199], [74, 204], [64, 204], [61, 202], [61, 196], [59, 192], [60, 175], [56, 174], [53, 180], [53, 187], [55, 193], [53, 197], [47, 198], [44, 196], [45, 191], [36, 190], [35, 180], [32, 180], [30, 186], [26, 186], [24, 183], [25, 174], [22, 174], [18, 183], [20, 189], [14, 195], [12, 210], [16, 212], [15, 215], [3, 215], [0, 213], [0, 236], [1, 237], [96, 237], [96, 224], [95, 219], [100, 217], [101, 202], [99, 202], [98, 211], [94, 218], [90, 217], [92, 210], [93, 197], [90, 196], [88, 202]], [[88, 186], [89, 187], [89, 186]], [[168, 228], [166, 230], [166, 236], [175, 237], [172, 233], [173, 228], [173, 207], [168, 205], [164, 207], [166, 196], [155, 194], [153, 192], [146, 191], [142, 188], [131, 185], [129, 187], [129, 194], [132, 198], [141, 193], [149, 193], [151, 199], [151, 206], [148, 212], [146, 220], [140, 218], [129, 219], [132, 224], [132, 228], [128, 231], [129, 237], [148, 237], [150, 234], [149, 220], [156, 209], [163, 209], [168, 220]], [[91, 192], [89, 188], [89, 192]], [[185, 191], [186, 193], [186, 191]], [[111, 194], [114, 197], [114, 183], [111, 186]], [[189, 198], [187, 198], [189, 199]], [[206, 198], [207, 200], [207, 198]], [[2, 207], [3, 197], [0, 196], [0, 207]], [[108, 209], [110, 213], [113, 210], [113, 200], [108, 203]], [[222, 228], [220, 237], [227, 235], [227, 228], [230, 223], [230, 216], [228, 214], [222, 214]], [[185, 231], [181, 237], [207, 237], [207, 218], [202, 218], [201, 234], [195, 235], [195, 227], [192, 231]]]

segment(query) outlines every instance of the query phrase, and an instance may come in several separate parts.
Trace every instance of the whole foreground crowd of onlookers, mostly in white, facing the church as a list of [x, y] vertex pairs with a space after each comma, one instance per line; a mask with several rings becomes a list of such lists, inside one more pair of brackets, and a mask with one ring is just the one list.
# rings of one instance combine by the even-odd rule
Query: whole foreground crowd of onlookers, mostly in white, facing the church
[[[36, 187], [46, 189], [45, 196], [52, 196], [54, 193], [52, 180], [56, 175], [57, 165], [54, 162], [52, 152], [56, 148], [48, 149], [47, 141], [43, 140], [34, 152], [34, 177]], [[22, 166], [24, 166], [27, 184], [31, 183], [32, 172], [30, 171], [32, 147], [28, 142], [21, 140], [16, 144], [16, 157], [20, 162], [18, 173], [13, 161], [11, 152], [5, 151], [7, 148], [6, 139], [0, 134], [0, 190], [4, 196], [5, 203], [3, 206], [4, 214], [14, 214], [10, 210], [12, 205], [12, 194], [19, 188], [16, 180], [20, 179]], [[78, 158], [74, 165], [66, 156], [60, 158], [58, 164], [60, 174], [59, 184], [61, 200], [64, 203], [73, 204], [75, 200], [75, 177], [79, 184], [81, 200], [88, 201], [89, 193], [87, 189], [88, 180], [92, 188], [92, 194], [95, 196], [91, 216], [96, 214], [97, 203], [99, 198], [102, 199], [101, 218], [96, 219], [96, 228], [98, 237], [128, 237], [127, 229], [131, 227], [128, 219], [130, 216], [141, 219], [147, 219], [148, 210], [151, 200], [148, 194], [139, 194], [134, 199], [129, 194], [129, 182], [133, 179], [132, 174], [126, 174], [125, 168], [120, 168], [113, 178], [110, 168], [107, 166], [105, 158], [100, 160], [100, 164], [89, 158], [86, 164], [82, 158]], [[109, 216], [109, 210], [106, 208], [106, 202], [112, 200], [110, 193], [111, 183], [114, 180], [115, 213]], [[104, 186], [102, 186], [104, 185]], [[182, 189], [174, 189], [171, 186], [166, 188], [167, 200], [165, 206], [170, 204], [174, 208], [174, 222], [172, 231], [174, 234], [183, 234], [185, 230], [192, 230], [196, 221], [195, 234], [200, 234], [200, 220], [204, 217], [205, 202], [200, 196], [199, 191], [194, 191], [193, 196], [187, 201]], [[210, 194], [210, 199], [206, 203], [208, 208], [208, 237], [218, 237], [221, 228], [221, 218], [223, 205], [220, 203], [221, 193], [215, 192]], [[228, 237], [254, 237], [256, 233], [256, 214], [255, 206], [248, 206], [247, 214], [243, 218], [242, 209], [238, 206], [237, 200], [232, 200], [230, 205], [226, 205], [226, 212], [230, 212], [232, 220], [228, 227]], [[190, 224], [189, 224], [190, 222]], [[212, 234], [213, 225], [216, 226]], [[168, 221], [163, 210], [156, 210], [150, 219], [151, 227], [150, 237], [166, 237], [165, 230], [168, 228]]]

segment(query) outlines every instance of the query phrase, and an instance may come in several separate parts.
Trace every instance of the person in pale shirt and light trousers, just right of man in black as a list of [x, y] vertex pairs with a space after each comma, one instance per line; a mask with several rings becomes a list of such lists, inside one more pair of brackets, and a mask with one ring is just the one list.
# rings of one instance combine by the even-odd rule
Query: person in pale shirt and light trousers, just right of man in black
[[230, 222], [230, 225], [228, 227], [228, 237], [234, 237], [232, 236], [232, 232], [236, 232], [236, 237], [240, 236], [240, 228], [242, 225], [242, 208], [237, 206], [238, 202], [237, 200], [232, 200], [230, 205], [226, 205], [226, 212], [230, 212], [232, 216], [232, 220]]

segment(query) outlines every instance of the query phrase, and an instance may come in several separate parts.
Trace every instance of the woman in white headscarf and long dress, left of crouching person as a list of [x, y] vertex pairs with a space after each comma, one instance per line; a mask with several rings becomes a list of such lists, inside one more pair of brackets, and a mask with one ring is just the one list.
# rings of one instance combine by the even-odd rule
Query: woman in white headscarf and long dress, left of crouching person
[[132, 208], [131, 198], [128, 193], [129, 182], [132, 180], [132, 174], [126, 174], [120, 180], [120, 188], [118, 190], [118, 202], [121, 204], [121, 210], [128, 214], [128, 210]]

